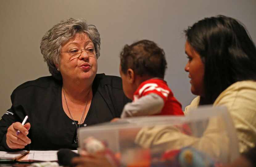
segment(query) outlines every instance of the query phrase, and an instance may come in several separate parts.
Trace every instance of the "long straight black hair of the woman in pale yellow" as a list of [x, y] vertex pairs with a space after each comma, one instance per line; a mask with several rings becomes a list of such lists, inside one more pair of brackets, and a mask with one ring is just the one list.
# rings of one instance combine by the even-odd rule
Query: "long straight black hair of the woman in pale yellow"
[[200, 105], [213, 104], [237, 81], [256, 80], [256, 47], [241, 22], [218, 15], [204, 18], [184, 32], [204, 63]]

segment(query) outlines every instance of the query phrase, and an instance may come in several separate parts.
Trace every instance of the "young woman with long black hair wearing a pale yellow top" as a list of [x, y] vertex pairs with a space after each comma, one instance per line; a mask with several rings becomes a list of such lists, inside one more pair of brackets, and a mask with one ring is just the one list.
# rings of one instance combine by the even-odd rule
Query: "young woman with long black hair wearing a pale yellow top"
[[256, 144], [256, 47], [241, 22], [219, 15], [185, 30], [185, 71], [191, 92], [186, 107], [224, 105], [233, 119], [240, 153]]

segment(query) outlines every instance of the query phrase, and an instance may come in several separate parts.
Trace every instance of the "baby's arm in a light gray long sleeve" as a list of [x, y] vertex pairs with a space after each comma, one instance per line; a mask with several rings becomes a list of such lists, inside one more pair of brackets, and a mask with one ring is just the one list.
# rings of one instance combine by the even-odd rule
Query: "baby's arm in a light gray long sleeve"
[[121, 118], [158, 114], [164, 105], [163, 98], [155, 93], [142, 96], [135, 102], [124, 106]]

